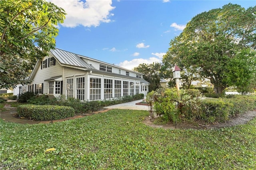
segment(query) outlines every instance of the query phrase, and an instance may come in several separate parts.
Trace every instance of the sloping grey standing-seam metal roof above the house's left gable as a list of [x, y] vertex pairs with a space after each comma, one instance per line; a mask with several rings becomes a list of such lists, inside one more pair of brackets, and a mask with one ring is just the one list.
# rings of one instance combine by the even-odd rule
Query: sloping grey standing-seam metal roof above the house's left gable
[[94, 68], [94, 66], [86, 63], [83, 59], [80, 58], [80, 56], [75, 53], [71, 53], [57, 48], [55, 48], [54, 50], [51, 49], [50, 52], [61, 64], [96, 69]]

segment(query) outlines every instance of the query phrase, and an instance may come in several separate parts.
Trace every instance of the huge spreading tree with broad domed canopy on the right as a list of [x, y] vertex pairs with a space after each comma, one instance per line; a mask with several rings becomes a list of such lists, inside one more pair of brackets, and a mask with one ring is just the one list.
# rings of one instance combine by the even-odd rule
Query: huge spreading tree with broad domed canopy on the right
[[192, 18], [183, 32], [171, 40], [163, 63], [177, 63], [196, 70], [202, 78], [210, 79], [219, 94], [226, 87], [243, 81], [243, 77], [232, 78], [233, 83], [227, 80], [231, 70], [233, 73], [240, 71], [232, 69], [230, 62], [240, 65], [247, 61], [251, 65], [244, 67], [248, 69], [244, 72], [254, 74], [256, 65], [250, 53], [255, 48], [256, 6], [244, 9], [227, 4]]

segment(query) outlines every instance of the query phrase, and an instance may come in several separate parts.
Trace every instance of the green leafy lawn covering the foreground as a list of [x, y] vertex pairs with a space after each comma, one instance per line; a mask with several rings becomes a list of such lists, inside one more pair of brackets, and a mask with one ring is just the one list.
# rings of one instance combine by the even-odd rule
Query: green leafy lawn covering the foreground
[[[256, 119], [214, 130], [164, 130], [147, 111], [112, 110], [53, 124], [0, 120], [0, 161], [26, 169], [255, 169]], [[46, 149], [56, 150], [45, 153]]]

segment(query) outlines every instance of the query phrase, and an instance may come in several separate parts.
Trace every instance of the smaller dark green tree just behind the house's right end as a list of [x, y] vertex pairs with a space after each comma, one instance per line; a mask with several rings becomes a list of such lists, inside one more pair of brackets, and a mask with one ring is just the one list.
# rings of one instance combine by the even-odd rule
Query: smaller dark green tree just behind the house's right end
[[134, 71], [141, 72], [144, 74], [143, 78], [149, 82], [148, 90], [156, 90], [161, 87], [160, 79], [161, 76], [161, 64], [152, 63], [152, 64], [140, 64], [138, 67], [133, 68]]

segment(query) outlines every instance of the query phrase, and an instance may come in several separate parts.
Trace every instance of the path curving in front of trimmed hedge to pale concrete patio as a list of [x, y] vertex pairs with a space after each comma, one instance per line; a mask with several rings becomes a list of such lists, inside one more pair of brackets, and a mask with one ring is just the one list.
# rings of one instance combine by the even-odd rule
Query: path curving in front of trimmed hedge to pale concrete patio
[[136, 105], [136, 103], [141, 102], [142, 100], [136, 100], [133, 102], [128, 102], [128, 103], [124, 103], [124, 104], [117, 104], [117, 105], [112, 105], [112, 106], [107, 106], [104, 107], [105, 110], [103, 111], [97, 111], [94, 113], [88, 113], [88, 114], [84, 114], [84, 115], [76, 115], [73, 117], [68, 117], [65, 119], [60, 119], [60, 120], [53, 120], [53, 121], [33, 121], [33, 120], [28, 120], [28, 119], [20, 119], [15, 117], [16, 113], [17, 113], [17, 108], [16, 107], [10, 107], [9, 104], [6, 104], [4, 106], [4, 108], [7, 109], [7, 111], [0, 111], [0, 118], [3, 119], [4, 121], [7, 122], [13, 122], [13, 123], [21, 123], [21, 124], [38, 124], [38, 123], [55, 123], [55, 122], [60, 122], [60, 121], [67, 121], [67, 120], [71, 120], [71, 119], [78, 119], [78, 118], [82, 118], [84, 116], [88, 116], [88, 115], [92, 115], [92, 114], [97, 114], [97, 113], [103, 113], [106, 111], [109, 111], [111, 109], [134, 109], [134, 110], [148, 110], [148, 106], [141, 106], [141, 105]]

